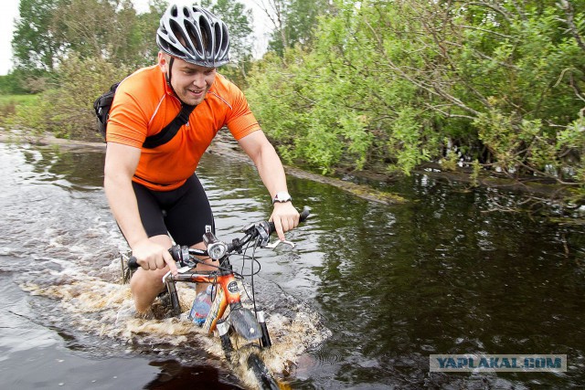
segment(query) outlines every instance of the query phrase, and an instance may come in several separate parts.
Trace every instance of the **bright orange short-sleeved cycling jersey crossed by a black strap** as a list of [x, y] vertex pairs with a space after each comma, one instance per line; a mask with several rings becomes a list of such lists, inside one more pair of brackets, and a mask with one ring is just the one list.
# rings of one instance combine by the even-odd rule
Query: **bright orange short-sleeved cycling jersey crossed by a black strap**
[[[106, 141], [142, 148], [146, 137], [160, 132], [179, 111], [181, 102], [161, 69], [156, 65], [139, 69], [116, 90]], [[228, 126], [236, 140], [260, 130], [241, 90], [217, 74], [206, 99], [176, 136], [154, 149], [142, 149], [133, 181], [155, 191], [181, 186], [223, 126]]]

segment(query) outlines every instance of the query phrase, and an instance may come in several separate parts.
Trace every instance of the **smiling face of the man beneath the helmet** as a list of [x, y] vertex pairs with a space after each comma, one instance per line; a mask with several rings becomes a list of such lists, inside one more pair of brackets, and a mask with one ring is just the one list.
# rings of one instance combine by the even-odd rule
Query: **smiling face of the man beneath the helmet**
[[[163, 72], [168, 71], [170, 57], [159, 53], [158, 66]], [[189, 64], [183, 59], [175, 58], [173, 70], [171, 71], [171, 85], [176, 95], [186, 104], [196, 106], [202, 102], [207, 90], [216, 79], [215, 68], [205, 68]]]

